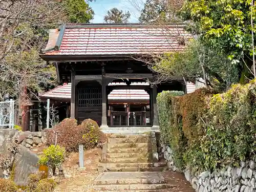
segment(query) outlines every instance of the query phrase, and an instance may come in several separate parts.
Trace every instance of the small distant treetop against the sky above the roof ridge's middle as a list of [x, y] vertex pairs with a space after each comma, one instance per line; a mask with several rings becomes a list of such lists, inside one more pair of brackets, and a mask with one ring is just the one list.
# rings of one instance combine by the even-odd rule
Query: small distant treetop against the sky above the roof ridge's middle
[[106, 15], [104, 16], [104, 22], [108, 24], [126, 24], [128, 23], [131, 17], [131, 13], [129, 11], [123, 12], [122, 10], [118, 10], [117, 8], [112, 8]]

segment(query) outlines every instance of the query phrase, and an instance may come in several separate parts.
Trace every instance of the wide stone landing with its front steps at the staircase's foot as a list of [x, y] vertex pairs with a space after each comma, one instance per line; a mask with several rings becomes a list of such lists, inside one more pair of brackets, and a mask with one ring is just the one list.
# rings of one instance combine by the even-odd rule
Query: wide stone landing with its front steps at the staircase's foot
[[105, 172], [94, 181], [99, 191], [166, 191], [177, 185], [165, 184], [161, 172]]

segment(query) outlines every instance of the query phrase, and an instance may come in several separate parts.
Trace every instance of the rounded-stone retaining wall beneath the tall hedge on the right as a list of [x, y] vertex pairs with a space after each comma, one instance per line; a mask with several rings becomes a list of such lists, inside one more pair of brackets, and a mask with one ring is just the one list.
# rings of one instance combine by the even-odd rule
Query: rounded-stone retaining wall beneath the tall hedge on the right
[[[165, 144], [161, 144], [164, 159], [168, 161], [168, 168], [180, 171], [173, 161], [173, 152]], [[213, 173], [206, 170], [201, 174], [193, 174], [189, 170], [182, 170], [187, 181], [196, 192], [256, 192], [255, 161], [241, 161], [239, 167], [226, 166]]]

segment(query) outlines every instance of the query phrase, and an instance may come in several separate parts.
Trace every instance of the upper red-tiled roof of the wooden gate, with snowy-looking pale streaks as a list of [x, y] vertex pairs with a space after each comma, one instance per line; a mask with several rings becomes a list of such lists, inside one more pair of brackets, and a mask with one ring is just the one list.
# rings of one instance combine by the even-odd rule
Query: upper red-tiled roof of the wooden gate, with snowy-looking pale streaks
[[59, 31], [51, 31], [42, 54], [126, 55], [180, 51], [184, 48], [180, 39], [192, 38], [183, 28], [181, 24], [165, 27], [140, 24], [63, 25]]

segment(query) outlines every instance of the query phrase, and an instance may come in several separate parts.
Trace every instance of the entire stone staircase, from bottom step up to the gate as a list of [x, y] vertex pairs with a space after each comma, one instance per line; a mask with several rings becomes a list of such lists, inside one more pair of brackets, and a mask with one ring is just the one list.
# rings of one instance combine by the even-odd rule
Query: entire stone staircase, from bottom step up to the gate
[[98, 191], [165, 192], [161, 171], [166, 163], [158, 162], [155, 132], [107, 134], [100, 164], [101, 173], [94, 181]]

